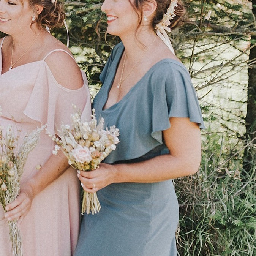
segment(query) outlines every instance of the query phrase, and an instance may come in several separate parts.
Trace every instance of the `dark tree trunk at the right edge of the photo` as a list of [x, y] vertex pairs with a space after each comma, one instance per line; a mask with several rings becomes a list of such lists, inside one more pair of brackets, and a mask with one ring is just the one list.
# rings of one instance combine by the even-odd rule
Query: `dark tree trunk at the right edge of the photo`
[[[253, 14], [256, 16], [256, 0], [251, 1], [253, 3]], [[256, 36], [251, 37], [252, 40], [256, 40]], [[254, 41], [255, 42], [255, 41]], [[250, 50], [249, 60], [256, 59], [256, 47]], [[256, 64], [253, 64], [249, 68], [249, 81], [248, 81], [248, 100], [247, 100], [247, 115], [246, 122], [246, 137], [249, 139], [256, 138]], [[255, 142], [254, 142], [255, 144]], [[253, 171], [253, 164], [255, 164], [255, 150], [252, 147], [247, 147], [245, 150], [245, 156], [243, 160], [243, 168], [245, 171]]]

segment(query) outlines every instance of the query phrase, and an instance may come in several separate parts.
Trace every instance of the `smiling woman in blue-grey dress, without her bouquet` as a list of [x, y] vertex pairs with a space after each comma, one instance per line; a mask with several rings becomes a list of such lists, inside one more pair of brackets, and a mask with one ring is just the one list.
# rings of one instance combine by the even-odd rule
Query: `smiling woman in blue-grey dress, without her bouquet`
[[120, 143], [100, 168], [78, 172], [97, 191], [101, 210], [84, 215], [76, 256], [177, 256], [179, 206], [172, 179], [198, 170], [198, 99], [164, 30], [178, 0], [105, 0], [107, 32], [120, 37], [93, 101], [96, 117], [120, 129]]

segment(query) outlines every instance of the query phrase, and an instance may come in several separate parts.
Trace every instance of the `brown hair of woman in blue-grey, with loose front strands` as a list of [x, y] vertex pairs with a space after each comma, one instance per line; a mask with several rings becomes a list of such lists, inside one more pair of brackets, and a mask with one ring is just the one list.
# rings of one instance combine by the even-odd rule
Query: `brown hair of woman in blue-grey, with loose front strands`
[[[131, 5], [137, 10], [140, 11], [140, 22], [139, 25], [142, 22], [142, 6], [145, 2], [150, 1], [150, 0], [134, 0], [134, 2], [132, 3], [131, 0], [129, 0], [129, 2], [131, 3]], [[156, 7], [156, 11], [155, 11], [155, 16], [152, 19], [152, 27], [155, 28], [155, 26], [161, 22], [161, 20], [163, 19], [163, 15], [164, 13], [166, 13], [167, 9], [170, 6], [171, 1], [170, 0], [156, 0], [157, 3], [157, 7]], [[179, 21], [182, 20], [183, 16], [186, 13], [186, 9], [182, 3], [181, 0], [177, 1], [177, 6], [174, 9], [174, 14], [176, 14], [176, 16], [174, 17], [174, 19], [171, 19], [170, 22], [171, 24], [168, 26], [169, 28], [174, 29], [179, 25]]]

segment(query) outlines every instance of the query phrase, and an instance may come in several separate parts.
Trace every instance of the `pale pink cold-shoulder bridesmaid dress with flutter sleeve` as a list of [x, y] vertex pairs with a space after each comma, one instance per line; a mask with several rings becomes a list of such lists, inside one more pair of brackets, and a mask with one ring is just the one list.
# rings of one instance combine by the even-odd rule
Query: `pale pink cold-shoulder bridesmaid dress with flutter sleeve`
[[[2, 74], [2, 51], [0, 52], [0, 124], [3, 131], [7, 125], [12, 125], [14, 130], [16, 127], [21, 129], [19, 144], [26, 133], [45, 123], [50, 133], [58, 134], [57, 129], [61, 123], [71, 122], [72, 103], [77, 108], [84, 109], [84, 120], [90, 118], [91, 100], [85, 73], [81, 71], [83, 87], [69, 90], [57, 83], [44, 61], [45, 58]], [[53, 148], [54, 142], [43, 131], [40, 142], [28, 155], [21, 182], [38, 171], [36, 166], [47, 161]], [[73, 254], [79, 233], [79, 186], [76, 171], [70, 167], [34, 198], [31, 210], [21, 224], [24, 256]], [[3, 215], [0, 205], [0, 255], [11, 256], [9, 228]]]

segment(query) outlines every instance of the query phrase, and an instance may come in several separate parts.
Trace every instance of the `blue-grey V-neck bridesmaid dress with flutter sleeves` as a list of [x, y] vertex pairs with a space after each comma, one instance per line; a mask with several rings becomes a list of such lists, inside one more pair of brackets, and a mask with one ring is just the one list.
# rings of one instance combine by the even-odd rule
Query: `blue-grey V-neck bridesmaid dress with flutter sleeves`
[[[164, 59], [150, 68], [118, 103], [103, 110], [124, 46], [114, 47], [93, 101], [96, 117], [120, 129], [120, 143], [105, 163], [133, 163], [168, 154], [162, 131], [169, 117], [189, 117], [204, 128], [186, 68]], [[76, 256], [177, 256], [179, 206], [172, 180], [114, 183], [97, 192], [101, 210], [84, 215]]]

